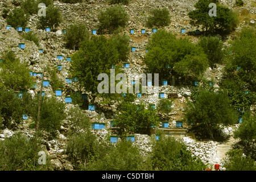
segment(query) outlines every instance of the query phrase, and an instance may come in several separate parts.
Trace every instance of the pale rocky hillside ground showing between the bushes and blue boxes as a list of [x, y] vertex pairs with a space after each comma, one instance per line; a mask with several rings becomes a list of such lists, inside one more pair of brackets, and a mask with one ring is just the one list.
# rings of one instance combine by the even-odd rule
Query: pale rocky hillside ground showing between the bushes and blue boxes
[[[0, 10], [3, 10], [3, 7], [18, 7], [20, 6], [20, 2], [22, 0], [1, 0], [0, 1]], [[193, 32], [197, 29], [197, 27], [193, 27], [189, 24], [188, 12], [195, 9], [194, 5], [197, 0], [132, 0], [129, 5], [124, 6], [127, 13], [130, 15], [129, 24], [126, 26], [126, 32], [129, 32], [131, 28], [134, 29], [134, 34], [130, 35], [130, 46], [136, 47], [135, 52], [131, 52], [129, 56], [128, 63], [130, 63], [130, 68], [124, 69], [127, 75], [139, 74], [143, 73], [146, 69], [146, 65], [143, 62], [144, 56], [146, 54], [145, 47], [147, 45], [148, 39], [150, 39], [153, 34], [150, 29], [146, 28], [146, 34], [141, 34], [141, 29], [145, 28], [144, 19], [149, 14], [151, 9], [155, 7], [167, 7], [170, 10], [171, 15], [171, 24], [166, 27], [166, 30], [170, 30], [176, 34], [178, 37], [187, 37], [192, 40], [192, 42], [197, 42], [197, 36], [191, 36], [189, 32]], [[242, 10], [247, 10], [249, 12], [249, 18], [245, 18], [240, 16], [242, 21], [236, 30], [239, 32], [241, 27], [245, 24], [251, 23], [254, 24], [256, 7], [255, 1], [245, 0], [245, 6], [243, 7], [234, 7], [235, 0], [220, 0], [220, 3], [234, 9], [239, 14]], [[17, 32], [13, 27], [9, 30], [6, 30], [6, 21], [0, 16], [0, 55], [3, 54], [4, 51], [14, 51], [16, 57], [27, 64], [30, 68], [31, 72], [42, 72], [43, 68], [46, 65], [51, 67], [57, 67], [57, 65], [62, 65], [62, 70], [58, 73], [58, 77], [63, 80], [64, 90], [63, 96], [58, 97], [59, 100], [65, 102], [65, 95], [68, 90], [73, 91], [82, 91], [86, 93], [85, 90], [81, 90], [79, 88], [77, 82], [72, 82], [69, 84], [65, 78], [68, 78], [68, 69], [70, 66], [69, 61], [67, 61], [67, 57], [70, 57], [75, 51], [72, 49], [67, 49], [64, 47], [63, 33], [62, 30], [65, 27], [68, 27], [71, 23], [85, 23], [88, 27], [88, 30], [93, 30], [97, 27], [98, 19], [97, 14], [100, 11], [105, 10], [110, 5], [106, 3], [106, 0], [87, 0], [83, 3], [61, 3], [59, 1], [54, 1], [54, 6], [60, 7], [61, 13], [63, 14], [64, 22], [60, 24], [57, 28], [56, 32], [46, 32], [44, 30], [38, 30], [36, 28], [36, 23], [38, 22], [38, 15], [31, 15], [31, 18], [27, 24], [27, 27], [31, 28], [31, 31], [35, 32], [36, 36], [39, 38], [39, 46], [36, 46], [34, 42], [30, 42], [22, 38], [21, 33]], [[2, 13], [2, 12], [1, 12]], [[185, 34], [181, 34], [181, 28], [185, 28]], [[236, 32], [233, 32], [228, 37], [222, 38], [225, 40], [225, 44], [228, 45], [228, 40], [232, 39]], [[20, 49], [18, 47], [19, 43], [25, 43], [25, 48]], [[39, 49], [43, 49], [43, 52], [40, 52]], [[63, 60], [57, 59], [57, 55], [63, 55]], [[216, 83], [214, 85], [215, 89], [218, 89], [218, 83], [222, 78], [222, 65], [219, 65], [217, 68], [208, 68], [205, 72], [205, 78], [208, 80], [214, 79]], [[49, 80], [49, 75], [46, 73], [44, 78], [41, 78], [39, 75], [36, 76], [36, 89], [31, 89], [30, 93], [37, 94], [40, 91], [40, 82], [41, 80]], [[182, 85], [182, 84], [181, 84]], [[171, 85], [163, 85], [159, 87], [159, 93], [177, 93], [178, 98], [175, 99], [174, 105], [172, 105], [173, 110], [171, 113], [166, 115], [170, 116], [170, 127], [175, 126], [175, 121], [182, 119], [184, 104], [189, 100], [191, 96], [191, 86], [171, 86]], [[46, 96], [50, 97], [55, 94], [55, 90], [52, 90], [51, 85], [44, 88], [44, 92]], [[88, 100], [90, 101], [92, 97], [90, 93], [88, 94]], [[167, 94], [164, 96], [167, 98]], [[96, 99], [96, 103], [98, 103], [98, 109], [96, 111], [85, 110], [85, 113], [89, 116], [92, 122], [102, 122], [106, 123], [106, 129], [102, 130], [93, 130], [94, 133], [97, 134], [99, 139], [105, 138], [107, 135], [111, 133], [110, 130], [110, 121], [115, 118], [115, 111], [117, 109], [117, 105], [113, 102], [112, 105], [101, 106], [99, 102], [101, 98]], [[143, 101], [148, 104], [157, 104], [158, 98], [154, 97], [154, 92], [147, 93], [142, 98], [135, 100], [135, 102]], [[71, 107], [74, 107], [73, 104], [66, 105], [66, 111], [68, 111]], [[156, 105], [157, 107], [157, 105]], [[255, 107], [252, 107], [252, 110], [255, 111]], [[24, 134], [30, 138], [34, 133], [33, 129], [28, 127], [29, 121], [24, 121], [22, 125], [20, 125], [16, 130], [3, 130], [0, 134], [0, 139], [3, 140], [5, 138], [11, 137], [14, 132], [22, 131]], [[224, 133], [229, 136], [232, 136], [234, 127], [225, 128]], [[63, 122], [63, 126], [61, 126], [61, 130], [59, 131], [59, 136], [57, 139], [52, 139], [49, 134], [46, 133], [45, 138], [42, 142], [48, 151], [48, 154], [52, 157], [52, 163], [55, 165], [56, 170], [72, 170], [72, 164], [67, 161], [67, 155], [64, 153], [64, 146], [67, 142], [67, 138], [65, 135], [68, 130], [68, 120]], [[150, 136], [147, 135], [135, 135], [135, 144], [138, 144], [141, 147], [143, 154], [147, 154], [148, 151], [151, 150]], [[217, 158], [217, 145], [220, 143], [208, 141], [208, 142], [197, 142], [191, 138], [184, 138], [185, 143], [188, 144], [188, 148], [193, 151], [193, 154], [198, 156], [205, 163], [215, 164], [220, 162]]]

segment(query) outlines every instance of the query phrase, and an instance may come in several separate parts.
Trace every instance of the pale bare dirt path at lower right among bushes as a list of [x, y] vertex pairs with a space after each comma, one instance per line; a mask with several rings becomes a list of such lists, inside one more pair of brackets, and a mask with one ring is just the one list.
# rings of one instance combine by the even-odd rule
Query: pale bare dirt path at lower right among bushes
[[230, 137], [226, 142], [217, 145], [217, 162], [218, 164], [221, 163], [221, 160], [225, 158], [226, 152], [232, 149], [232, 144], [234, 143], [235, 139]]

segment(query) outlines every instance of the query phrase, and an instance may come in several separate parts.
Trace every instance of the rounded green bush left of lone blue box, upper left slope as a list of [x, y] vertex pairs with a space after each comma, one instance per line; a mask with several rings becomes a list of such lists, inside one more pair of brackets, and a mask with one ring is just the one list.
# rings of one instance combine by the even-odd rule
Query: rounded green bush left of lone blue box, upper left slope
[[78, 49], [81, 42], [89, 40], [89, 31], [85, 24], [71, 24], [64, 35], [66, 47]]

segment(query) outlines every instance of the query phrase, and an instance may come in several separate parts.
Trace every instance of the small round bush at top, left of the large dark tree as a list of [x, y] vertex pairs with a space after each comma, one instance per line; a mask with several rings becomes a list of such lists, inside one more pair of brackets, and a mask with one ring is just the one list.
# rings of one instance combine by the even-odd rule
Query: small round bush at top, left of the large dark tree
[[146, 20], [146, 26], [149, 28], [160, 28], [169, 26], [171, 23], [171, 16], [167, 8], [156, 8], [150, 11], [150, 16]]

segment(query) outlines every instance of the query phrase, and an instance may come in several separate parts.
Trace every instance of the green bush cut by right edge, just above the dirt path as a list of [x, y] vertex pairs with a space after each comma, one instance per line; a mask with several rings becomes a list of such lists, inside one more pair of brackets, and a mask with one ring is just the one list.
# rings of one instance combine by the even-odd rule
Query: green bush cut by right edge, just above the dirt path
[[256, 116], [252, 116], [249, 111], [243, 115], [242, 123], [236, 131], [234, 131], [234, 138], [251, 141], [256, 139]]

